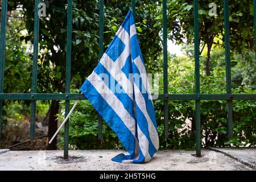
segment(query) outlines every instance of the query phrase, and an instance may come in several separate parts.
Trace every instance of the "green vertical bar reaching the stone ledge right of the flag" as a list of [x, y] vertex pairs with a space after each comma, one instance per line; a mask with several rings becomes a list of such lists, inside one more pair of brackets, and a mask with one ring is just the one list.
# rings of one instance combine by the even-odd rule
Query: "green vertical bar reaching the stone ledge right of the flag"
[[[199, 21], [198, 0], [194, 5], [194, 46], [195, 46], [195, 93], [200, 94]], [[196, 100], [196, 156], [201, 156], [200, 100]]]

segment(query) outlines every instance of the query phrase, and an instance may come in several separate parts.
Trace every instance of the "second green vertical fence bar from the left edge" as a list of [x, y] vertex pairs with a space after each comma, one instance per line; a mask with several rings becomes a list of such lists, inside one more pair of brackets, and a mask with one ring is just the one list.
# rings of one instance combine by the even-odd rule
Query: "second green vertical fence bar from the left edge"
[[[32, 66], [32, 87], [31, 93], [36, 93], [38, 80], [38, 42], [39, 42], [39, 0], [35, 0], [34, 7], [34, 42], [33, 42], [33, 66]], [[35, 138], [36, 101], [31, 101], [30, 139]]]

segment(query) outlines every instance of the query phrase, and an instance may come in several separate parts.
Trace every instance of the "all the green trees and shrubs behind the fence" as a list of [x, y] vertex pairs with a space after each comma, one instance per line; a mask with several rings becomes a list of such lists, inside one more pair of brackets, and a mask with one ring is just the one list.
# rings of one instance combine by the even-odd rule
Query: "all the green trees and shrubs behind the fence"
[[[64, 93], [67, 1], [42, 1], [47, 16], [40, 18], [38, 93]], [[209, 3], [217, 5], [217, 14], [209, 16]], [[232, 49], [233, 93], [256, 93], [253, 2], [230, 3], [230, 42]], [[242, 6], [241, 6], [242, 5]], [[122, 23], [130, 1], [105, 0], [104, 47], [108, 47]], [[74, 1], [72, 19], [72, 92], [97, 65], [99, 1]], [[193, 93], [193, 1], [168, 1], [168, 39], [183, 47], [182, 55], [168, 55], [168, 92]], [[225, 52], [222, 1], [200, 1], [201, 93], [225, 93]], [[31, 90], [34, 3], [9, 1], [5, 63], [5, 93], [29, 93]], [[162, 1], [137, 2], [137, 30], [148, 73], [162, 73]], [[160, 93], [163, 80], [160, 79]], [[71, 105], [73, 102], [71, 102]], [[163, 101], [154, 101], [161, 148], [195, 148], [195, 102], [169, 101], [169, 139], [163, 134]], [[255, 101], [233, 102], [234, 138], [226, 135], [226, 102], [201, 102], [203, 146], [255, 146]], [[37, 121], [56, 127], [62, 121], [64, 102], [38, 101]], [[30, 102], [5, 101], [3, 138], [10, 127], [30, 117]], [[53, 117], [49, 117], [53, 115]], [[15, 123], [15, 125], [13, 124]], [[97, 139], [97, 113], [88, 101], [80, 101], [70, 122], [70, 147], [73, 149], [122, 148], [117, 137], [104, 123], [103, 140]], [[63, 145], [63, 137], [58, 138]], [[47, 146], [47, 149], [56, 149]]]

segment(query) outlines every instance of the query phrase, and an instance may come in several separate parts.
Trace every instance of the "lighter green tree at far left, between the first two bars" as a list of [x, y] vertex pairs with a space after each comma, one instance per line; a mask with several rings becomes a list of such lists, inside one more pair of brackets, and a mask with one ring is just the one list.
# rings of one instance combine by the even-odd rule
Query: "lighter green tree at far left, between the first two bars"
[[[6, 57], [4, 93], [27, 93], [31, 87], [32, 55], [30, 44], [20, 41], [20, 36], [25, 35], [25, 24], [19, 17], [19, 11], [9, 11], [6, 25]], [[26, 72], [24, 72], [26, 70]], [[12, 105], [13, 101], [3, 101], [3, 107]], [[19, 103], [29, 105], [28, 101]], [[3, 109], [3, 124], [7, 123], [7, 110]]]

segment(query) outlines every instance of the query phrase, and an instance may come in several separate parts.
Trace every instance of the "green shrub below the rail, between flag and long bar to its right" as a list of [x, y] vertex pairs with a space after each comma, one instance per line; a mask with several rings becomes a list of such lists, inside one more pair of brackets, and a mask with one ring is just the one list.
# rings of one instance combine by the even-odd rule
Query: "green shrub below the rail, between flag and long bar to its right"
[[163, 101], [154, 101], [160, 148], [195, 148], [195, 134], [191, 126], [186, 124], [187, 117], [193, 114], [192, 103], [193, 101], [168, 101], [169, 138], [164, 139]]

